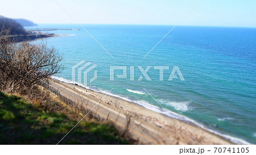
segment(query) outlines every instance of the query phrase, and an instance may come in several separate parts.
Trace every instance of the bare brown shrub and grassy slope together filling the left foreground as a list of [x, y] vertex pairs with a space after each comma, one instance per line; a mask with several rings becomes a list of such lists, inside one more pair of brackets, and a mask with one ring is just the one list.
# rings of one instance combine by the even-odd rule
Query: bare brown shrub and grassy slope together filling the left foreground
[[[63, 70], [61, 59], [54, 48], [16, 43], [10, 31], [1, 31], [0, 144], [57, 144], [84, 116], [84, 108], [68, 106], [38, 85]], [[119, 135], [87, 117], [60, 144], [127, 144]]]

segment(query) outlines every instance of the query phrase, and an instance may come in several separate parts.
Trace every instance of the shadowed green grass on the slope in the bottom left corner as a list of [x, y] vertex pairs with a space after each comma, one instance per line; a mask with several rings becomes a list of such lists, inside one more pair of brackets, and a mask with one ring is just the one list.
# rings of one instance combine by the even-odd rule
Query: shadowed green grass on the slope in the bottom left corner
[[[0, 91], [0, 144], [56, 144], [78, 121]], [[112, 125], [82, 120], [60, 144], [127, 144]]]

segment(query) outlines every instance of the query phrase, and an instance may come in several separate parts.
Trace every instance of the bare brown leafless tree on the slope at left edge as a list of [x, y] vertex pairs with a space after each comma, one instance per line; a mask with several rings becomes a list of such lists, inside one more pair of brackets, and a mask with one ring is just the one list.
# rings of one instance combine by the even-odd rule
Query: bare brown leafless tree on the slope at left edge
[[[3, 31], [2, 31], [3, 32]], [[42, 79], [60, 73], [62, 57], [45, 44], [15, 43], [0, 33], [0, 89], [10, 93], [31, 89]]]

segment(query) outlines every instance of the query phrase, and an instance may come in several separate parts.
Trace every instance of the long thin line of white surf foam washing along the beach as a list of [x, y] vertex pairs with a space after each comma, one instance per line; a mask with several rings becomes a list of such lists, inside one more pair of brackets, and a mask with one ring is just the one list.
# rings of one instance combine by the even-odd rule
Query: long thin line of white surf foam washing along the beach
[[[128, 102], [132, 102], [132, 103], [138, 104], [138, 105], [140, 105], [140, 106], [142, 106], [144, 108], [147, 108], [148, 110], [152, 110], [152, 111], [158, 112], [158, 113], [166, 115], [166, 116], [168, 116], [170, 118], [178, 119], [178, 120], [181, 120], [183, 122], [187, 122], [189, 124], [196, 125], [197, 127], [203, 128], [203, 129], [205, 129], [205, 130], [207, 130], [209, 132], [214, 133], [215, 135], [224, 137], [225, 139], [230, 140], [230, 141], [232, 141], [235, 144], [250, 144], [247, 141], [239, 139], [237, 137], [232, 137], [232, 136], [229, 136], [229, 135], [224, 135], [223, 133], [214, 131], [213, 129], [209, 129], [205, 125], [203, 125], [201, 123], [198, 123], [195, 120], [189, 119], [189, 118], [187, 118], [187, 117], [185, 117], [183, 115], [179, 115], [176, 112], [173, 112], [171, 110], [167, 110], [167, 109], [164, 110], [163, 108], [160, 108], [158, 106], [154, 106], [154, 105], [152, 105], [152, 104], [150, 104], [150, 103], [148, 103], [148, 102], [146, 102], [144, 100], [131, 100], [131, 99], [126, 98], [126, 97], [121, 97], [121, 96], [116, 95], [116, 94], [108, 93], [107, 91], [104, 91], [104, 90], [92, 89], [90, 87], [83, 86], [83, 85], [81, 85], [81, 84], [79, 84], [79, 83], [77, 83], [75, 81], [71, 81], [69, 79], [65, 79], [65, 78], [62, 78], [62, 77], [51, 76], [51, 78], [56, 79], [57, 81], [65, 82], [65, 83], [71, 83], [71, 84], [75, 84], [76, 83], [77, 85], [79, 85], [81, 87], [84, 87], [85, 89], [93, 90], [93, 91], [96, 91], [98, 93], [110, 95], [110, 96], [115, 97], [115, 98], [120, 98], [120, 99], [126, 100]], [[191, 101], [189, 101], [189, 102], [191, 102]], [[177, 102], [177, 103], [179, 103], [179, 102]], [[186, 104], [189, 104], [189, 103], [186, 103]], [[181, 106], [181, 107], [183, 107], [183, 106]], [[254, 135], [256, 136], [256, 133], [254, 133]]]

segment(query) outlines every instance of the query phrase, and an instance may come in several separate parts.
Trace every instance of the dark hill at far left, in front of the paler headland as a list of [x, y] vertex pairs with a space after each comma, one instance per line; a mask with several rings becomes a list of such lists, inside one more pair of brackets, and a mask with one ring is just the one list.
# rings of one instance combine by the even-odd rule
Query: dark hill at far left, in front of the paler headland
[[27, 31], [23, 26], [14, 19], [0, 16], [0, 32], [10, 30], [10, 35], [27, 35]]

